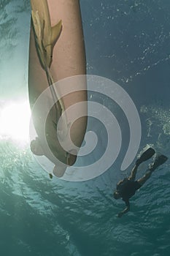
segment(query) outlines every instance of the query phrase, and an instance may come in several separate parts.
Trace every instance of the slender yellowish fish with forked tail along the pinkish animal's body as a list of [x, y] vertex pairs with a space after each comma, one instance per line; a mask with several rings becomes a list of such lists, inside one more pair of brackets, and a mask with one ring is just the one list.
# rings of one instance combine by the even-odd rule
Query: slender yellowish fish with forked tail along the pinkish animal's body
[[[55, 112], [56, 112], [56, 124], [58, 124], [58, 119], [64, 112], [63, 100], [60, 99], [58, 91], [52, 86], [54, 81], [50, 72], [50, 66], [53, 61], [53, 48], [61, 34], [62, 22], [61, 20], [55, 25], [51, 26], [50, 13], [48, 10], [47, 0], [31, 0], [31, 18], [32, 26], [34, 30], [34, 39], [36, 45], [36, 52], [39, 57], [39, 62], [42, 69], [45, 70], [47, 75], [47, 82], [50, 86], [50, 91], [53, 97]], [[63, 139], [68, 133], [68, 124], [66, 120], [66, 114], [63, 113], [62, 116], [63, 129], [58, 135]]]

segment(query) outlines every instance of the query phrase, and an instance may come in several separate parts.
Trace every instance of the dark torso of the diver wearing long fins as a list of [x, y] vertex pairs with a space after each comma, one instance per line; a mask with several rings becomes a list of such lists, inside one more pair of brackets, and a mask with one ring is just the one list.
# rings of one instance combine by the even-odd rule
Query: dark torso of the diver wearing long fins
[[129, 206], [129, 198], [131, 198], [140, 187], [141, 185], [138, 181], [131, 181], [128, 178], [124, 178], [123, 181], [117, 184], [116, 190], [119, 192], [126, 206]]

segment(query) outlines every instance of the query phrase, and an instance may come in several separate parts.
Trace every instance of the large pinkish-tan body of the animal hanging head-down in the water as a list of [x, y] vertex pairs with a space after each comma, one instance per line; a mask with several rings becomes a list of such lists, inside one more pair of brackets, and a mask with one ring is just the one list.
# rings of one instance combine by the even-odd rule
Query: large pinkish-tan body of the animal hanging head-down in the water
[[[32, 20], [30, 47], [29, 47], [29, 64], [28, 64], [28, 94], [31, 110], [45, 89], [48, 88], [47, 72], [45, 72], [45, 64], [50, 69], [50, 74], [54, 82], [58, 82], [57, 93], [62, 96], [62, 80], [74, 75], [85, 75], [85, 47], [82, 34], [82, 20], [80, 15], [80, 4], [78, 0], [31, 0], [31, 9], [34, 14], [39, 14], [42, 29], [39, 38], [43, 38], [42, 50], [46, 55], [41, 55], [41, 49], [37, 50], [37, 42]], [[49, 20], [50, 19], [50, 20]], [[44, 21], [43, 21], [44, 20]], [[61, 30], [62, 22], [62, 30]], [[41, 34], [42, 33], [42, 34]], [[41, 42], [41, 39], [39, 40]], [[39, 45], [39, 43], [38, 43]], [[43, 62], [45, 60], [45, 62]], [[79, 80], [79, 79], [78, 79]], [[80, 83], [80, 80], [77, 83]], [[70, 136], [75, 146], [80, 147], [85, 136], [87, 126], [87, 91], [86, 81], [81, 79], [81, 91], [74, 91], [75, 83], [71, 83], [72, 94], [68, 94], [62, 98], [64, 110], [78, 102], [86, 102], [78, 108], [74, 108], [74, 117], [80, 115], [82, 108], [82, 117], [74, 121], [70, 129]], [[48, 100], [48, 99], [47, 99]], [[68, 136], [63, 137], [64, 143], [68, 146], [63, 149], [56, 132], [55, 124], [55, 108], [50, 110], [46, 121], [46, 139], [53, 153], [48, 154], [42, 135], [41, 119], [42, 109], [33, 111], [32, 118], [34, 128], [36, 129], [37, 138], [31, 143], [31, 149], [36, 155], [45, 155], [51, 162], [55, 164], [53, 173], [56, 176], [63, 176], [66, 167], [60, 165], [55, 159], [59, 159], [66, 165], [73, 165], [77, 158], [77, 150], [70, 148]], [[78, 114], [79, 113], [79, 114]], [[68, 120], [72, 120], [68, 116]], [[67, 124], [69, 127], [69, 123]], [[66, 129], [66, 124], [63, 123]], [[69, 156], [69, 157], [68, 157]], [[50, 170], [49, 170], [50, 171]]]

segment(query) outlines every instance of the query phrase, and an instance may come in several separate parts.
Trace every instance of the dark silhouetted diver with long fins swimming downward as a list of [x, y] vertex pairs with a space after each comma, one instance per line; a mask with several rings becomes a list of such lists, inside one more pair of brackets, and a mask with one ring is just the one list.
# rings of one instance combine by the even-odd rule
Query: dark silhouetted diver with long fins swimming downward
[[155, 154], [153, 162], [149, 165], [144, 176], [142, 178], [139, 178], [137, 181], [135, 181], [136, 172], [139, 165], [142, 162], [147, 161], [147, 159], [150, 159], [154, 154], [155, 154], [155, 150], [153, 148], [147, 148], [147, 150], [144, 151], [141, 157], [139, 157], [139, 159], [136, 160], [135, 166], [131, 170], [131, 175], [128, 178], [124, 178], [123, 181], [119, 181], [117, 183], [117, 187], [113, 194], [113, 197], [115, 199], [122, 198], [126, 206], [123, 211], [120, 211], [120, 213], [117, 214], [117, 217], [122, 217], [123, 214], [127, 213], [130, 210], [129, 199], [135, 194], [136, 190], [142, 187], [144, 183], [148, 180], [148, 178], [150, 178], [152, 172], [158, 166], [163, 165], [163, 163], [166, 162], [166, 160], [168, 159], [168, 157], [164, 156], [163, 154], [161, 155]]

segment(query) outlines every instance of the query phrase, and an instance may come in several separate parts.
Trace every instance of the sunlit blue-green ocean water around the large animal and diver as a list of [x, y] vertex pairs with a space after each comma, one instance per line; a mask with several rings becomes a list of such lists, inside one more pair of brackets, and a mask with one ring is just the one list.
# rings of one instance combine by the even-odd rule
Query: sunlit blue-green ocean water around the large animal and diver
[[[82, 0], [80, 4], [88, 74], [115, 81], [133, 99], [142, 123], [139, 152], [150, 145], [169, 157], [170, 2]], [[117, 218], [124, 204], [114, 200], [112, 192], [133, 163], [120, 170], [129, 128], [114, 102], [89, 94], [89, 100], [115, 111], [123, 134], [120, 155], [104, 174], [83, 182], [51, 180], [34, 159], [24, 140], [29, 29], [28, 0], [0, 1], [1, 255], [168, 256], [169, 160], [131, 198], [131, 211]], [[82, 160], [84, 165], [107, 147], [101, 128], [90, 118], [88, 130], [95, 129], [98, 145]], [[147, 165], [139, 167], [137, 178]]]

